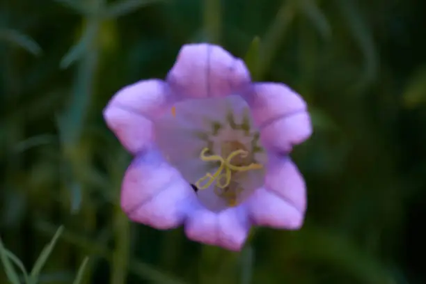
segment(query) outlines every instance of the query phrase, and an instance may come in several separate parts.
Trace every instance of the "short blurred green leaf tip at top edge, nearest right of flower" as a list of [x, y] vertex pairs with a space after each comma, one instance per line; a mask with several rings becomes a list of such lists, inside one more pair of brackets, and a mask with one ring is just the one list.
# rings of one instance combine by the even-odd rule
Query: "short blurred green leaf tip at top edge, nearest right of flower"
[[325, 40], [331, 37], [331, 27], [322, 10], [318, 7], [315, 0], [302, 0], [298, 2], [301, 5], [303, 13], [312, 22], [313, 27]]

